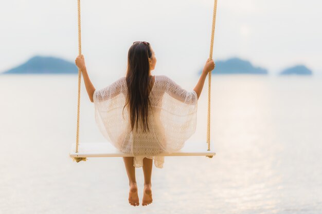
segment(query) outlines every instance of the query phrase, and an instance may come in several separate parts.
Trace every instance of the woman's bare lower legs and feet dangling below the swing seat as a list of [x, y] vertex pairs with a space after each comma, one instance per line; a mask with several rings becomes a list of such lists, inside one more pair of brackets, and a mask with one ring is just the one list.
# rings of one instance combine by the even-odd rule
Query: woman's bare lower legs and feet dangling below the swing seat
[[[130, 192], [129, 192], [129, 203], [133, 206], [139, 205], [139, 199], [137, 195], [137, 185], [135, 179], [135, 167], [133, 166], [133, 157], [123, 157], [123, 161], [127, 170]], [[142, 205], [146, 206], [152, 203], [152, 190], [151, 190], [151, 176], [152, 176], [152, 159], [143, 159], [143, 173], [144, 173], [144, 190]]]

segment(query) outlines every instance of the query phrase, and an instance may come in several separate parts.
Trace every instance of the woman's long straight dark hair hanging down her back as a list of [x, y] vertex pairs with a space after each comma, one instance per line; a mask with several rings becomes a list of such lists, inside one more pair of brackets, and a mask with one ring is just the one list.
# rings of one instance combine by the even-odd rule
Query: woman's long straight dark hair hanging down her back
[[[144, 132], [149, 131], [148, 109], [150, 105], [149, 90], [151, 91], [151, 76], [149, 58], [152, 51], [149, 43], [135, 42], [129, 49], [128, 69], [126, 81], [128, 85], [128, 96], [124, 108], [129, 104], [131, 131], [141, 119]], [[123, 110], [124, 110], [123, 108]]]

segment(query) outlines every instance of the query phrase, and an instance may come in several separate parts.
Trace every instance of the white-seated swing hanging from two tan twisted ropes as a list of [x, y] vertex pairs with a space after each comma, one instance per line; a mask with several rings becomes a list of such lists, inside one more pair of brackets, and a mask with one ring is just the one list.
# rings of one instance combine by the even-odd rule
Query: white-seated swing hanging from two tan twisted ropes
[[[212, 15], [212, 30], [210, 40], [209, 59], [212, 59], [214, 28], [216, 24], [217, 0], [214, 0], [213, 15]], [[80, 0], [78, 0], [78, 54], [81, 55], [81, 23], [80, 23]], [[132, 157], [133, 155], [123, 153], [115, 148], [110, 142], [91, 142], [79, 143], [79, 111], [80, 111], [80, 85], [81, 85], [81, 70], [78, 70], [78, 99], [77, 99], [77, 128], [76, 142], [72, 144], [69, 157], [74, 161], [86, 161], [88, 157]], [[211, 87], [211, 72], [208, 73], [208, 114], [207, 114], [207, 146], [208, 149], [201, 148], [203, 141], [189, 142], [186, 141], [185, 146], [172, 153], [164, 152], [154, 156], [206, 156], [212, 158], [216, 155], [210, 150], [210, 88]]]

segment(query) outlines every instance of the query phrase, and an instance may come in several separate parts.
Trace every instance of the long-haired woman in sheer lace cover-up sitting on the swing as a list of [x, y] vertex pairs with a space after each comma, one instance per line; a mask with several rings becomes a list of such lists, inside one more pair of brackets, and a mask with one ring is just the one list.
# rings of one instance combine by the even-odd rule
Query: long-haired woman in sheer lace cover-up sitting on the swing
[[152, 203], [152, 161], [162, 168], [164, 157], [155, 155], [182, 148], [195, 132], [198, 99], [214, 62], [207, 60], [192, 91], [186, 91], [165, 75], [151, 75], [156, 58], [148, 42], [133, 43], [126, 76], [101, 90], [95, 90], [88, 77], [84, 56], [78, 56], [75, 63], [95, 104], [100, 131], [116, 148], [133, 156], [123, 157], [130, 185], [129, 203], [139, 205], [135, 167], [141, 166], [144, 172], [142, 205]]

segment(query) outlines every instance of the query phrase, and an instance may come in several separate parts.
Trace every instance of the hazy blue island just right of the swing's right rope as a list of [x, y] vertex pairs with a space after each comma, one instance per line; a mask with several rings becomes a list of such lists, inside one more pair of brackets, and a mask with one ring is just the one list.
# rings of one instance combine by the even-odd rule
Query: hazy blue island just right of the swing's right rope
[[[237, 57], [226, 61], [217, 61], [216, 68], [211, 74], [267, 74], [267, 70], [254, 67], [249, 61], [241, 60]], [[202, 71], [201, 71], [202, 72]], [[200, 72], [200, 73], [201, 73]]]

